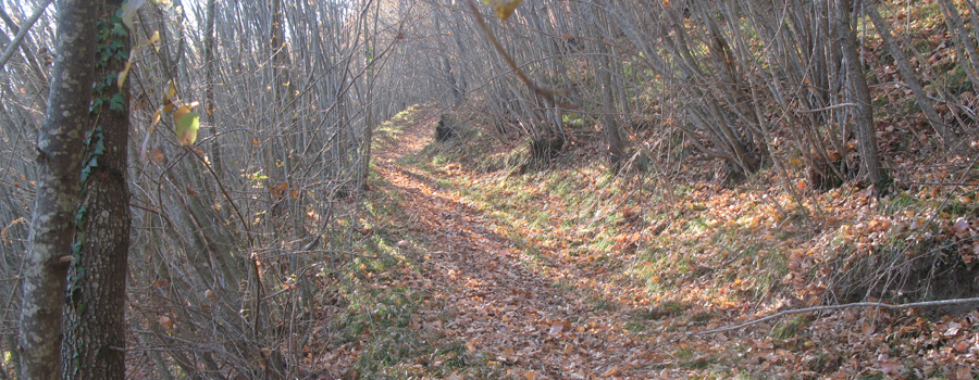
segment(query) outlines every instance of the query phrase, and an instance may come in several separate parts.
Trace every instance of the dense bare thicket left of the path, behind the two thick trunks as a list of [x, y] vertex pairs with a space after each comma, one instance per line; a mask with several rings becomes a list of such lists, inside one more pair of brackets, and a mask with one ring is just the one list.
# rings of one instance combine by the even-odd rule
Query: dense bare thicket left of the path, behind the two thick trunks
[[[2, 35], [46, 3], [4, 3]], [[131, 35], [144, 48], [128, 78], [126, 349], [153, 366], [131, 370], [164, 379], [297, 376], [296, 353], [318, 321], [317, 290], [337, 276], [333, 259], [355, 239], [371, 130], [407, 103], [379, 90], [400, 27], [388, 22], [404, 18], [382, 20], [387, 7], [201, 1], [138, 12]], [[14, 356], [53, 14], [3, 71], [3, 351]], [[147, 45], [157, 31], [159, 42]], [[178, 145], [165, 114], [150, 128], [170, 83], [175, 99], [200, 103], [193, 148]]]

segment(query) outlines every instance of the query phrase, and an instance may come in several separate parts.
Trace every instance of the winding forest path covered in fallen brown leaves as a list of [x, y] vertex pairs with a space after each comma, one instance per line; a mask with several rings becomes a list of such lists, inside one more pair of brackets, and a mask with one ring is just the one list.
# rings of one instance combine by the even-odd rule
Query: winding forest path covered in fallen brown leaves
[[649, 342], [623, 328], [632, 307], [575, 286], [600, 284], [598, 274], [546, 249], [533, 256], [513, 249], [494, 232], [499, 221], [467, 204], [451, 186], [439, 185], [451, 172], [402, 164], [424, 154], [433, 136], [431, 118], [412, 123], [376, 152], [375, 161], [404, 198], [407, 220], [398, 224], [417, 243], [406, 250], [417, 253], [425, 278], [419, 283], [434, 300], [423, 307], [443, 316], [425, 327], [464, 343], [470, 357], [482, 357], [481, 365], [498, 367], [507, 378], [649, 378], [648, 368], [640, 369], [649, 364]]

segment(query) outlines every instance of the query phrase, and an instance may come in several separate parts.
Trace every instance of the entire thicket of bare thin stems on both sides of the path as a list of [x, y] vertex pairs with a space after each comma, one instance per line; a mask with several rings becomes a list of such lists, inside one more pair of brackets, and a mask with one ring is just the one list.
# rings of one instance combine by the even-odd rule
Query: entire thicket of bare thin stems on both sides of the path
[[[975, 134], [976, 4], [938, 3], [954, 58], [921, 51], [906, 10], [872, 1], [535, 0], [506, 22], [468, 1], [151, 3], [131, 34], [161, 38], [129, 77], [128, 355], [153, 378], [299, 373], [321, 290], [358, 239], [372, 130], [412, 103], [475, 111], [487, 131], [525, 141], [536, 167], [598, 126], [614, 169], [646, 160], [667, 175], [696, 150], [732, 177], [773, 164], [794, 192], [782, 159], [797, 156], [819, 189], [863, 176], [883, 190], [881, 110], [920, 121], [906, 132], [935, 152]], [[46, 4], [4, 1], [0, 43]], [[11, 355], [53, 37], [49, 9], [0, 74]], [[868, 59], [869, 43], [890, 60]], [[880, 65], [900, 80], [881, 83]], [[200, 102], [193, 148], [166, 116], [149, 128], [171, 81]], [[914, 104], [871, 104], [873, 86]]]

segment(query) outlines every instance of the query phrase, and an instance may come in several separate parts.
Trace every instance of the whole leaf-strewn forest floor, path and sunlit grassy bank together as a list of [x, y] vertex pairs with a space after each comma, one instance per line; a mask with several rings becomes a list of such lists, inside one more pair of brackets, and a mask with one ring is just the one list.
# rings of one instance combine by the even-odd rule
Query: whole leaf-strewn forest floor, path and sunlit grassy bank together
[[[949, 315], [853, 307], [693, 334], [826, 304], [823, 280], [841, 277], [816, 265], [831, 258], [815, 251], [878, 246], [860, 236], [883, 239], [892, 225], [914, 220], [893, 212], [864, 215], [879, 206], [825, 201], [830, 212], [822, 217], [829, 220], [807, 230], [809, 225], [795, 223], [797, 216], [772, 221], [751, 214], [774, 213], [764, 197], [709, 186], [691, 188], [687, 201], [630, 203], [641, 186], [603, 179], [598, 169], [516, 176], [473, 168], [466, 156], [485, 152], [457, 145], [443, 154], [442, 143], [433, 142], [436, 119], [431, 110], [413, 107], [379, 130], [376, 176], [361, 218], [362, 252], [336, 287], [344, 301], [327, 311], [331, 343], [313, 363], [334, 376], [979, 376], [979, 311], [968, 308]], [[579, 178], [586, 185], [575, 187], [571, 176], [592, 179]], [[869, 191], [846, 194], [872, 203]], [[705, 205], [704, 199], [730, 203]], [[739, 211], [728, 221], [736, 219], [744, 229], [715, 220], [723, 216], [691, 219], [710, 214], [708, 206]], [[658, 210], [664, 217], [652, 217]], [[758, 227], [767, 223], [769, 228]], [[962, 225], [937, 228], [954, 232]], [[826, 238], [832, 231], [842, 240]], [[834, 241], [837, 249], [827, 249]]]

